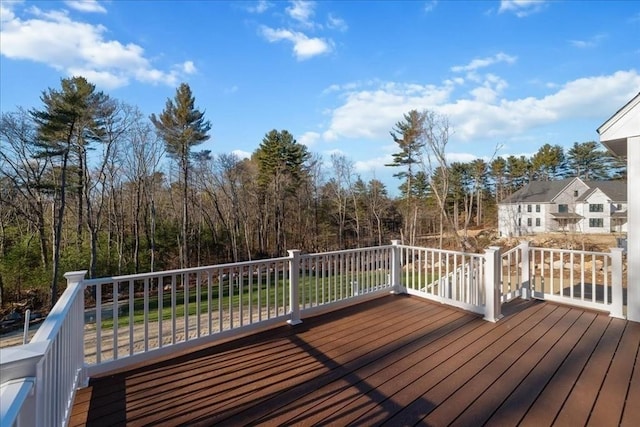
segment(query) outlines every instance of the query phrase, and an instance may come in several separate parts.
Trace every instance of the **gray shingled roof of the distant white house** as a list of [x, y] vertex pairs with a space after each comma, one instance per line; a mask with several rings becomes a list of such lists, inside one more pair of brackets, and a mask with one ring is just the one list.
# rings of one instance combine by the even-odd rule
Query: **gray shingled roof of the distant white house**
[[[549, 203], [572, 181], [578, 178], [565, 178], [558, 181], [532, 181], [504, 199], [501, 203]], [[596, 188], [599, 188], [614, 202], [627, 201], [626, 181], [583, 181], [589, 190], [577, 200], [584, 201]]]

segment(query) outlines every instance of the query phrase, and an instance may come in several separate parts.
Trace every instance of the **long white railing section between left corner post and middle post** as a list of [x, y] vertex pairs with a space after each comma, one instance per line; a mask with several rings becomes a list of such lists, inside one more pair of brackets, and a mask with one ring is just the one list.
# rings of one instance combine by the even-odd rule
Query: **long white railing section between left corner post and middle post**
[[289, 257], [85, 280], [89, 373], [282, 321]]

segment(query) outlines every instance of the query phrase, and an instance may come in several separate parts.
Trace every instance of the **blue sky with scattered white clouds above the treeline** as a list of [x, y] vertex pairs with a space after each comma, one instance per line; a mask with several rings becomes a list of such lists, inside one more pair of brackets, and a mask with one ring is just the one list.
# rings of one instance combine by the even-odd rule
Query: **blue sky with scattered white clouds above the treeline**
[[160, 113], [187, 82], [212, 123], [198, 149], [248, 155], [287, 129], [395, 191], [389, 131], [448, 117], [450, 161], [598, 140], [640, 92], [640, 1], [11, 1], [0, 107], [60, 79]]

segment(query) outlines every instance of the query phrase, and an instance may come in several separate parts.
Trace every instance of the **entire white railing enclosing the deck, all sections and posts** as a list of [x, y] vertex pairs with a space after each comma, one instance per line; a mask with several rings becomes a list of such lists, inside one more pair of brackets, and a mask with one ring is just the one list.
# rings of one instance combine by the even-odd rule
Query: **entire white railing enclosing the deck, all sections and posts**
[[[381, 293], [409, 293], [495, 322], [532, 294], [622, 317], [622, 252], [531, 248], [503, 255], [400, 245], [83, 280], [29, 344], [0, 349], [0, 424], [66, 424], [89, 376]], [[85, 304], [86, 300], [86, 304]]]

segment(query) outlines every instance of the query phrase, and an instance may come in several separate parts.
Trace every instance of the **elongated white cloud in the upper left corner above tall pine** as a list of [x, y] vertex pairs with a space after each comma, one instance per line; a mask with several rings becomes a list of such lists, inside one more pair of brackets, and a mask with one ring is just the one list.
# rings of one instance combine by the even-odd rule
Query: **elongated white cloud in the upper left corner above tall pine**
[[0, 53], [9, 59], [43, 63], [67, 75], [82, 72], [106, 88], [124, 86], [131, 79], [175, 86], [181, 72], [195, 68], [191, 61], [171, 71], [154, 68], [141, 46], [108, 40], [106, 27], [75, 21], [65, 11], [31, 7], [29, 13], [33, 17], [25, 19], [6, 4], [2, 7]]

